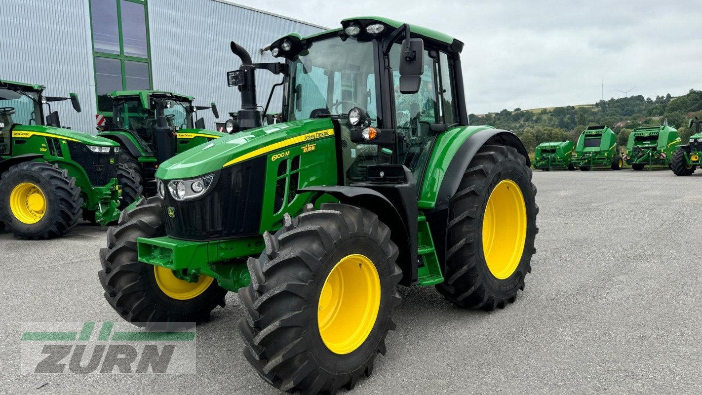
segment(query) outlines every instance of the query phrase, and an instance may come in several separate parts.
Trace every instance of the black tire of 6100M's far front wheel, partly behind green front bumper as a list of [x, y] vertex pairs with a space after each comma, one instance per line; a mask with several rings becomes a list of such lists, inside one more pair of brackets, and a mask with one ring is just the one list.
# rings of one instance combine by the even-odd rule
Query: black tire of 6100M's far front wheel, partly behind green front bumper
[[98, 278], [105, 299], [123, 319], [148, 329], [172, 330], [177, 328], [173, 323], [207, 321], [215, 307], [224, 307], [227, 290], [213, 281], [196, 297], [176, 300], [159, 288], [154, 266], [137, 258], [136, 239], [166, 236], [162, 215], [158, 197], [141, 199], [134, 210], [123, 211], [119, 226], [107, 230]]

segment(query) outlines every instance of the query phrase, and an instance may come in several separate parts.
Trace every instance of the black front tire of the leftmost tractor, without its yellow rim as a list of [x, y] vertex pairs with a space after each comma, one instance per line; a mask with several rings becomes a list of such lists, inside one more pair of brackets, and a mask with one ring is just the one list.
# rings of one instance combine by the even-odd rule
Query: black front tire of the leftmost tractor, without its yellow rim
[[[10, 194], [23, 182], [41, 189], [46, 210], [34, 224], [21, 222], [10, 209]], [[9, 168], [0, 180], [0, 218], [18, 239], [43, 240], [67, 234], [81, 217], [81, 189], [68, 170], [44, 162], [23, 162]]]

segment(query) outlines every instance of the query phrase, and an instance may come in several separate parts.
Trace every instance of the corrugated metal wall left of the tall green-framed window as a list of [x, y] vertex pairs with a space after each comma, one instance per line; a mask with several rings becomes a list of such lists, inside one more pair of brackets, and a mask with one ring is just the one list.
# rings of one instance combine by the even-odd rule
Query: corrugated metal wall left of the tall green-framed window
[[41, 83], [46, 95], [78, 94], [80, 114], [58, 102], [63, 126], [95, 131], [95, 87], [87, 0], [2, 0], [0, 79]]

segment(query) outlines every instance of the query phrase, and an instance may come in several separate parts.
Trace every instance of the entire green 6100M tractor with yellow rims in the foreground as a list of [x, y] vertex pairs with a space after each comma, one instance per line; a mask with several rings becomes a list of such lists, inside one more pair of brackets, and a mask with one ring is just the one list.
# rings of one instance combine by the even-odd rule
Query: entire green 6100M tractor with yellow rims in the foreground
[[[469, 126], [462, 49], [375, 17], [274, 41], [284, 64], [253, 64], [232, 43], [237, 118], [252, 127], [161, 163], [157, 196], [100, 250], [107, 301], [173, 330], [238, 292], [246, 359], [304, 394], [371, 375], [398, 284], [469, 309], [514, 302], [535, 253], [536, 187], [514, 133]], [[261, 126], [256, 69], [285, 76], [281, 123]]]

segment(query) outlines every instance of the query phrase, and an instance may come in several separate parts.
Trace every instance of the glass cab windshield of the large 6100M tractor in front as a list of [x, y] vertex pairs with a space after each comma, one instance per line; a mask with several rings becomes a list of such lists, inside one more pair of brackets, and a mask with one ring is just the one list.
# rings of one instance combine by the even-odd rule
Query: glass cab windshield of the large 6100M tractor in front
[[316, 114], [346, 114], [364, 109], [373, 124], [378, 116], [373, 41], [315, 41], [291, 64], [287, 119]]

